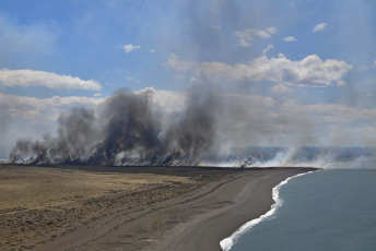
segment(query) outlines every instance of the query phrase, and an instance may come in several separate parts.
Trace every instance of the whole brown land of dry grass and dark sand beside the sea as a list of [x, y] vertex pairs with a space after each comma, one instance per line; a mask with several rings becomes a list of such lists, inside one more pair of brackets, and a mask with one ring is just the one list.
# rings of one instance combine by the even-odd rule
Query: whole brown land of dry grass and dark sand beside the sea
[[274, 186], [309, 170], [2, 166], [0, 250], [220, 251], [270, 208]]

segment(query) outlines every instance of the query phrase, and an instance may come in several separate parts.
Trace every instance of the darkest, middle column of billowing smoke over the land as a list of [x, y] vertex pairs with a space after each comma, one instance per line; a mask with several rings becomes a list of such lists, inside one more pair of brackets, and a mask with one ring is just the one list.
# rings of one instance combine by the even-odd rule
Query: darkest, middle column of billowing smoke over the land
[[107, 99], [101, 120], [104, 123], [99, 132], [103, 140], [91, 156], [93, 164], [114, 165], [121, 153], [126, 154], [122, 162], [129, 155], [140, 159], [157, 155], [161, 128], [152, 113], [148, 94], [116, 93]]

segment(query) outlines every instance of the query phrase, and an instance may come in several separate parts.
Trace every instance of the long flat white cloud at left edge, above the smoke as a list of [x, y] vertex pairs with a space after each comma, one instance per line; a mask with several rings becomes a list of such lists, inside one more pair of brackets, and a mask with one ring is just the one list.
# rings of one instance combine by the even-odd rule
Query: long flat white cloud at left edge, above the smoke
[[99, 83], [81, 80], [78, 76], [59, 75], [52, 72], [34, 70], [0, 70], [0, 84], [5, 86], [45, 86], [52, 89], [99, 91]]

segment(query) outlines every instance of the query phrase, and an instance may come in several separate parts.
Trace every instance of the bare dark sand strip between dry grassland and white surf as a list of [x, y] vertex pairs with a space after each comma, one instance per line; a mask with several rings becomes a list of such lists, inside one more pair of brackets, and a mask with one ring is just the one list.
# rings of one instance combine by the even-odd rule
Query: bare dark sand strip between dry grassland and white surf
[[221, 251], [220, 241], [273, 204], [272, 188], [310, 168], [244, 170], [142, 208], [113, 212], [39, 250]]

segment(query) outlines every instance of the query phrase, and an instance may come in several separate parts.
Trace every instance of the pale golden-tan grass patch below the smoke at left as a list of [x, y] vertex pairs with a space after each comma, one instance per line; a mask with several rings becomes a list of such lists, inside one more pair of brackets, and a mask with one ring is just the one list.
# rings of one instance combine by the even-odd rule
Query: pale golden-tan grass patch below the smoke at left
[[187, 177], [154, 174], [90, 172], [45, 167], [0, 169], [0, 214], [42, 208], [140, 190], [152, 184], [192, 182]]

